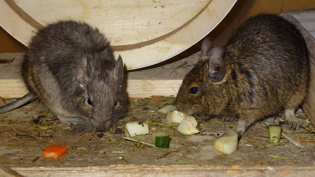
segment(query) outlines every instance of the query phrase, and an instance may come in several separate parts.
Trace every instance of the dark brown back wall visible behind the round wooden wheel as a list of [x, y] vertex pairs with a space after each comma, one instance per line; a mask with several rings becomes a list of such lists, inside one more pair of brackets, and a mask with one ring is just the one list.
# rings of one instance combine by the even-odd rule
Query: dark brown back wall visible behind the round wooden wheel
[[[222, 0], [224, 2], [224, 0]], [[315, 8], [315, 0], [238, 0], [225, 19], [208, 35], [215, 45], [224, 45], [242, 21], [260, 12], [280, 14], [286, 10]], [[191, 49], [200, 49], [201, 42]], [[0, 52], [23, 52], [26, 47], [0, 27]]]

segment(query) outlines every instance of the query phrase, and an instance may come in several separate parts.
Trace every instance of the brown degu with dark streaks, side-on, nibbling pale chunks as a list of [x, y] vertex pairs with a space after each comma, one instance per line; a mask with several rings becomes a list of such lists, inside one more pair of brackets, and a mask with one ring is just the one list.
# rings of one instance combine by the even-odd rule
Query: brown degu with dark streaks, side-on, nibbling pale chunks
[[284, 110], [299, 128], [295, 109], [306, 97], [308, 51], [301, 32], [275, 14], [259, 14], [241, 24], [222, 47], [205, 38], [198, 63], [176, 97], [182, 112], [207, 118], [238, 119], [236, 132]]

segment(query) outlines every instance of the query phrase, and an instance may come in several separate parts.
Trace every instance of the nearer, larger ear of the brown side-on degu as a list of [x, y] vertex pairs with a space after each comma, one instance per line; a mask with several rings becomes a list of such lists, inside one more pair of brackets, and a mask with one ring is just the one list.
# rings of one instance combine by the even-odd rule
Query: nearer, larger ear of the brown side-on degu
[[209, 56], [209, 73], [213, 83], [221, 82], [226, 74], [226, 65], [224, 62], [225, 49], [221, 47], [212, 47]]

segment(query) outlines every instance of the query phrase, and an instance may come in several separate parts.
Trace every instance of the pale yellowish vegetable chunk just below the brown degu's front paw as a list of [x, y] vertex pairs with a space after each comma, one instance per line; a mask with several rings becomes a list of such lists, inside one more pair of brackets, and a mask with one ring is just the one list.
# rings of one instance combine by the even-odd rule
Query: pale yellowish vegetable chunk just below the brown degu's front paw
[[232, 154], [236, 151], [238, 146], [238, 136], [237, 133], [232, 133], [231, 136], [224, 136], [215, 140], [215, 150], [223, 152], [227, 155]]

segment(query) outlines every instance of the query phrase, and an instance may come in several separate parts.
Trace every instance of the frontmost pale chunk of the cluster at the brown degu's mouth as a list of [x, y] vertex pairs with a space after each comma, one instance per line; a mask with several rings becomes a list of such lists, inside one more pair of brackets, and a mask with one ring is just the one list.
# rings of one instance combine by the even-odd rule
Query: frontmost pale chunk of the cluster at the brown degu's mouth
[[185, 117], [177, 127], [177, 131], [186, 135], [196, 134], [199, 133], [199, 130], [196, 128], [196, 126], [197, 121], [194, 117]]

